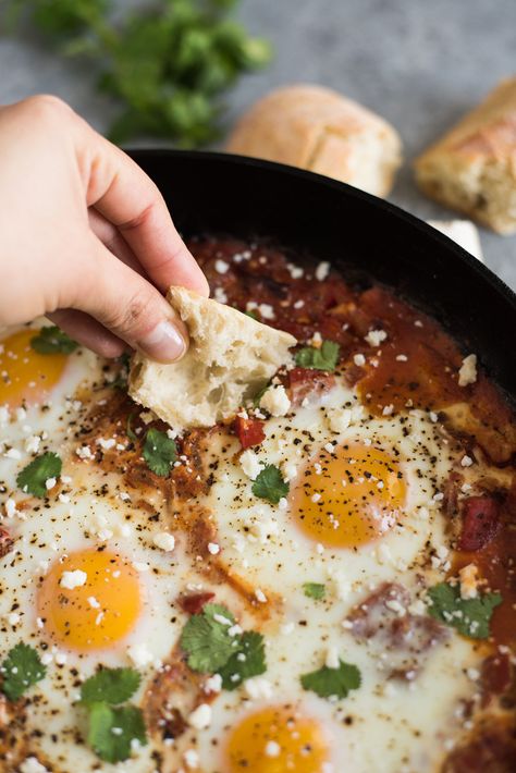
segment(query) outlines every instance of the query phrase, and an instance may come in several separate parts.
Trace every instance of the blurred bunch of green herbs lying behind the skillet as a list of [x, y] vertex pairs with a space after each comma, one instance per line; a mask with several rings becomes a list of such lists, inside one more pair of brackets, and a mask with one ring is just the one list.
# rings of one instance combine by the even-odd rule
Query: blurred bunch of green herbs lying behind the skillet
[[197, 147], [220, 136], [224, 93], [267, 64], [269, 44], [233, 21], [239, 0], [158, 0], [120, 12], [113, 0], [5, 0], [4, 26], [35, 29], [54, 50], [95, 61], [120, 113], [109, 137]]

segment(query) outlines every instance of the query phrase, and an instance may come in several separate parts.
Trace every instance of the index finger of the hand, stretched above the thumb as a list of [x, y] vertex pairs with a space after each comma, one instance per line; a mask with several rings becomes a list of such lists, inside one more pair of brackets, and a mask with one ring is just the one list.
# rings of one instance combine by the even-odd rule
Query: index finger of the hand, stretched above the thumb
[[86, 139], [77, 152], [88, 207], [120, 229], [159, 290], [179, 284], [208, 295], [206, 278], [175, 230], [157, 186], [126, 154], [82, 124]]

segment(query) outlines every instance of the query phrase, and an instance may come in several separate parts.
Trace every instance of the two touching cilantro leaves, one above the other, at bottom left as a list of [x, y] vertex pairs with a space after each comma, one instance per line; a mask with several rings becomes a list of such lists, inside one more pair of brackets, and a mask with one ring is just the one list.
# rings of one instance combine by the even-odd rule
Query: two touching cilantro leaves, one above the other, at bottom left
[[125, 703], [138, 689], [134, 668], [100, 668], [81, 688], [81, 703], [88, 711], [88, 744], [106, 762], [123, 762], [132, 745], [147, 744], [142, 709]]

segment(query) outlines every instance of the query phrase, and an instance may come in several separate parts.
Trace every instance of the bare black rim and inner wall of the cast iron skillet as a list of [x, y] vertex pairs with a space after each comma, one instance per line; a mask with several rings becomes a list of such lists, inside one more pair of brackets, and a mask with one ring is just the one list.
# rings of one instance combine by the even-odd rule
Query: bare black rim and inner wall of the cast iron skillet
[[475, 352], [516, 402], [516, 295], [446, 236], [392, 204], [283, 164], [224, 154], [134, 150], [184, 235], [266, 236], [394, 289]]

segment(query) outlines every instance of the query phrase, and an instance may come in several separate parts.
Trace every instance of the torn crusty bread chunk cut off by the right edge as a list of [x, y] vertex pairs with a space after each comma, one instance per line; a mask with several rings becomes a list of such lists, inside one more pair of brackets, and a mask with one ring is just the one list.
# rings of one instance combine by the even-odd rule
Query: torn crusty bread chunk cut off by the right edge
[[516, 232], [516, 77], [503, 81], [415, 162], [431, 198], [501, 234]]

